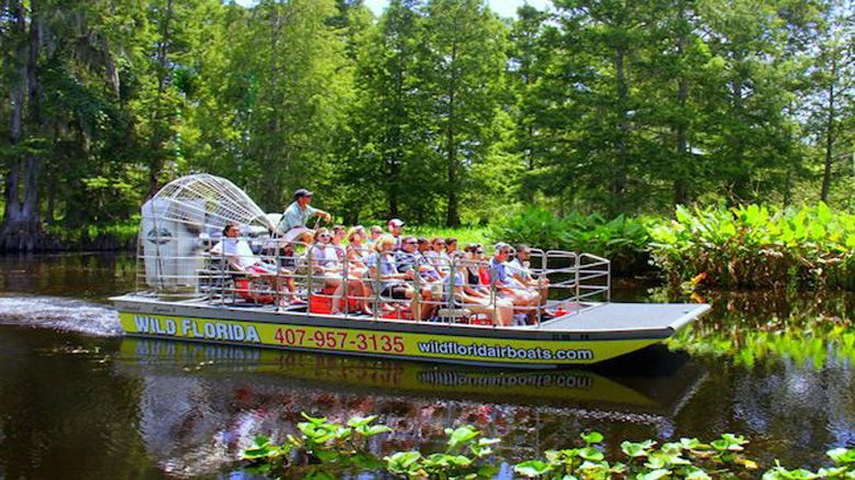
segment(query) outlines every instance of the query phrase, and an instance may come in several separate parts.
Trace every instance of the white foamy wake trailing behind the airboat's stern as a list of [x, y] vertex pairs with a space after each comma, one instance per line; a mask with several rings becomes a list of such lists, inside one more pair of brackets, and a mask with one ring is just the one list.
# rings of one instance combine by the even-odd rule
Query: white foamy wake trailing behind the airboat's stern
[[62, 297], [0, 297], [0, 324], [79, 332], [96, 336], [122, 334], [115, 310]]

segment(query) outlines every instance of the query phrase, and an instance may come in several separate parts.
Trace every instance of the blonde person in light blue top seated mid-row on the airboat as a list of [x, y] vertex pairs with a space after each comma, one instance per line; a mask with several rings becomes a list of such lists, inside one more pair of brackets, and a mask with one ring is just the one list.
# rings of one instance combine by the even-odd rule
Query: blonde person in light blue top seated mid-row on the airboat
[[415, 290], [413, 287], [406, 283], [407, 280], [415, 278], [415, 270], [408, 269], [401, 272], [397, 265], [396, 255], [392, 250], [395, 247], [395, 237], [391, 235], [382, 235], [375, 242], [375, 249], [377, 255], [373, 257], [373, 261], [369, 265], [370, 277], [378, 279], [380, 282], [380, 295], [391, 298], [395, 300], [409, 299], [410, 309], [412, 311], [413, 319], [430, 319], [433, 315], [433, 305], [431, 303], [423, 304], [423, 309], [419, 312], [423, 302], [430, 302], [431, 291], [426, 288], [420, 288], [420, 297], [423, 302], [417, 299]]

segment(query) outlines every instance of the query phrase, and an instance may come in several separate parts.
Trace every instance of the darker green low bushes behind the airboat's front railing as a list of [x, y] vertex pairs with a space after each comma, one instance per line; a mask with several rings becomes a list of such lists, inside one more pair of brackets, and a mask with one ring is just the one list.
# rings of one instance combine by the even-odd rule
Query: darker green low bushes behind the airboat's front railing
[[488, 231], [493, 241], [524, 243], [543, 249], [586, 252], [612, 260], [618, 274], [636, 272], [647, 265], [649, 241], [645, 222], [618, 215], [573, 212], [559, 217], [541, 208], [498, 220]]

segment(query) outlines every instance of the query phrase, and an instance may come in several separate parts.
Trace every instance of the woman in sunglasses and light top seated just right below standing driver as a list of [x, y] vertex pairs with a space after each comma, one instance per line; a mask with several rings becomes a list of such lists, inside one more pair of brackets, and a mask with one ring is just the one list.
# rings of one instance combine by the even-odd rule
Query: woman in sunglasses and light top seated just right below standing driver
[[[335, 288], [330, 314], [337, 315], [342, 313], [341, 303], [342, 295], [344, 294], [344, 268], [343, 264], [338, 261], [338, 255], [331, 242], [332, 235], [330, 234], [330, 231], [326, 228], [318, 228], [318, 232], [314, 233], [314, 245], [309, 248], [309, 258], [312, 271], [323, 278], [326, 287]], [[358, 278], [348, 276], [347, 289], [348, 293], [354, 298], [366, 297], [363, 281]], [[369, 315], [374, 314], [365, 300], [360, 300], [357, 303], [363, 312]]]

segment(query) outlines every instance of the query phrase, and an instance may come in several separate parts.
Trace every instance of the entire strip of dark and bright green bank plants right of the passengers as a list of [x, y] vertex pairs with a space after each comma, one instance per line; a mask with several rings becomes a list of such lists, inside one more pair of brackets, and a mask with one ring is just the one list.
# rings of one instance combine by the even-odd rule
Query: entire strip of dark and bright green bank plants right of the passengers
[[602, 255], [618, 274], [655, 268], [686, 289], [855, 289], [855, 214], [823, 202], [677, 206], [670, 219], [578, 212], [562, 217], [530, 208], [497, 220], [488, 232], [493, 241]]

